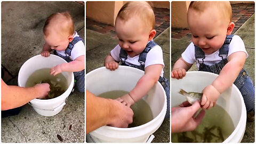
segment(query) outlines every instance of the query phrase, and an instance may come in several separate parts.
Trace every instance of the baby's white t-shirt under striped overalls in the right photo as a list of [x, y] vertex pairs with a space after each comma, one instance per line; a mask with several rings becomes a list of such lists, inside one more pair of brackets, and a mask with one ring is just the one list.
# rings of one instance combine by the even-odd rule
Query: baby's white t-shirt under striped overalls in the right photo
[[[230, 44], [229, 44], [229, 51], [228, 56], [234, 52], [245, 52], [246, 58], [248, 57], [248, 53], [245, 50], [244, 42], [242, 38], [240, 38], [237, 35], [234, 35]], [[181, 54], [181, 57], [188, 63], [193, 64], [196, 62], [197, 69], [199, 69], [199, 63], [195, 58], [195, 45], [193, 42], [191, 42], [187, 49]], [[224, 59], [226, 56], [223, 57]], [[213, 65], [214, 63], [218, 63], [222, 60], [221, 57], [219, 57], [219, 50], [212, 53], [212, 54], [205, 54], [204, 64], [205, 65]], [[199, 62], [202, 63], [202, 59], [199, 59]]]

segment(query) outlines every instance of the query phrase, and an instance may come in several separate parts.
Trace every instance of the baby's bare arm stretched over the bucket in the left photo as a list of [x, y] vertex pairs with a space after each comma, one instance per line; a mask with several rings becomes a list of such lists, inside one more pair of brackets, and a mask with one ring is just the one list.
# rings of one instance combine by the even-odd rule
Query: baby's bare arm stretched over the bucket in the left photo
[[77, 57], [74, 61], [68, 63], [61, 63], [53, 68], [51, 68], [51, 75], [57, 75], [62, 71], [81, 71], [84, 70], [84, 55]]

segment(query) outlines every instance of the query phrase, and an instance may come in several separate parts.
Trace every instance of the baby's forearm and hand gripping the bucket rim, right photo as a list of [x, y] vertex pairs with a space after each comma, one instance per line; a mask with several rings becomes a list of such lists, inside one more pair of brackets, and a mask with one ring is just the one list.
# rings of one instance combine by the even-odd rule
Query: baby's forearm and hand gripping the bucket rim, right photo
[[172, 69], [171, 77], [180, 79], [186, 75], [186, 71], [191, 68], [192, 64], [186, 62], [182, 57], [178, 59]]

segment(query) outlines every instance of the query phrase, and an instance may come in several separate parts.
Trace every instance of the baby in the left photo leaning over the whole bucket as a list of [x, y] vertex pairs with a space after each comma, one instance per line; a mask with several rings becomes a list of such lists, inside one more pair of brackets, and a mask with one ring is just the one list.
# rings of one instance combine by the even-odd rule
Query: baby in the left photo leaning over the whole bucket
[[51, 68], [51, 75], [62, 71], [72, 71], [76, 79], [76, 88], [84, 92], [84, 41], [74, 30], [74, 23], [68, 12], [53, 13], [47, 18], [43, 29], [45, 44], [41, 55], [49, 57], [51, 50], [54, 54], [65, 59], [68, 63], [61, 63]]

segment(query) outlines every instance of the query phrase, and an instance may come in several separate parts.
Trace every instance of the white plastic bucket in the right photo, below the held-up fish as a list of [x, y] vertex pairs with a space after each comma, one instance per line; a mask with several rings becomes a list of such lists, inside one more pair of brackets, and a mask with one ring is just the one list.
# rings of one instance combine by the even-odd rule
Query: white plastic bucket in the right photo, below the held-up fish
[[[178, 95], [180, 89], [188, 92], [202, 92], [204, 87], [210, 85], [217, 76], [204, 71], [188, 71], [182, 79], [172, 78], [171, 107], [186, 101], [185, 97]], [[227, 111], [235, 126], [233, 133], [223, 142], [241, 142], [246, 125], [246, 108], [242, 94], [233, 84], [220, 95], [217, 104]]]

